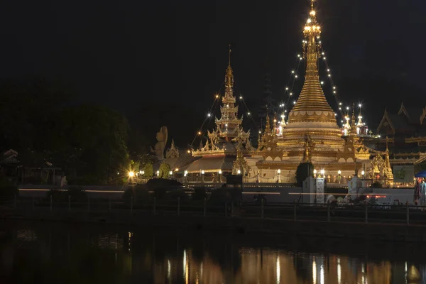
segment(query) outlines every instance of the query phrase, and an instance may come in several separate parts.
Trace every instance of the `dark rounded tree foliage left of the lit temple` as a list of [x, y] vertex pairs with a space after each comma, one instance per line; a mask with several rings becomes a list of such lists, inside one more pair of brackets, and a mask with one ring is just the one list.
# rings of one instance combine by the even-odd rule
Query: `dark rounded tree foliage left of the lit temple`
[[69, 183], [102, 184], [129, 166], [129, 124], [118, 112], [70, 105], [65, 87], [43, 80], [0, 84], [0, 149], [13, 148], [24, 166], [46, 161]]

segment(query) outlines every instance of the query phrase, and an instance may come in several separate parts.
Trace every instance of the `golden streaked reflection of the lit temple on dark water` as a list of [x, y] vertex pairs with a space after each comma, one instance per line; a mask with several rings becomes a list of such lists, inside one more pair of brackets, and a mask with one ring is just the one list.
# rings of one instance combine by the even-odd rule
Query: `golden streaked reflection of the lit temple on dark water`
[[[231, 256], [227, 256], [227, 259], [231, 259]], [[238, 265], [222, 263], [221, 266], [209, 253], [204, 253], [200, 259], [194, 258], [190, 249], [185, 249], [180, 258], [155, 262], [154, 282], [163, 283], [165, 276], [170, 281], [180, 278], [184, 283], [198, 284], [391, 284], [392, 281], [391, 263], [361, 263], [346, 256], [309, 256], [285, 251], [241, 249], [237, 262]], [[175, 269], [178, 267], [182, 267], [182, 270]], [[401, 266], [401, 273], [403, 269]], [[231, 273], [233, 270], [234, 273]]]

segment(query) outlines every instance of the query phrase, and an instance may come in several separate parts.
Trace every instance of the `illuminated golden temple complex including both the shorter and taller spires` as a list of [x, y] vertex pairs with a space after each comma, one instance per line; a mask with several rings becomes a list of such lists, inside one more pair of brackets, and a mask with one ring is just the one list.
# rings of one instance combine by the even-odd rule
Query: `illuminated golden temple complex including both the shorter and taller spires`
[[[346, 108], [346, 124], [338, 125], [337, 114], [330, 107], [322, 89], [318, 62], [322, 58], [321, 25], [311, 0], [311, 9], [303, 28], [303, 55], [305, 81], [300, 96], [291, 109], [288, 119], [285, 113], [280, 119], [266, 116], [266, 126], [258, 138], [258, 148], [253, 148], [250, 131], [242, 128], [239, 107], [234, 96], [234, 73], [231, 67], [231, 49], [225, 72], [224, 95], [220, 107], [221, 117], [215, 119], [216, 127], [200, 131], [202, 141], [196, 150], [188, 151], [192, 160], [180, 167], [185, 176], [193, 180], [204, 174], [208, 180], [219, 181], [222, 174], [243, 174], [246, 182], [295, 182], [295, 172], [300, 163], [311, 162], [318, 173], [329, 182], [337, 177], [350, 179], [355, 175], [365, 178], [393, 178], [389, 151], [378, 151], [366, 146], [364, 141], [375, 143], [361, 116], [355, 115], [355, 106], [349, 116]], [[333, 92], [335, 93], [335, 91]], [[290, 93], [291, 94], [291, 93]], [[217, 94], [217, 98], [220, 95]], [[341, 110], [342, 103], [339, 103]], [[280, 120], [280, 121], [278, 121]], [[344, 122], [344, 121], [342, 121]], [[379, 136], [380, 137], [380, 136]], [[205, 141], [205, 142], [203, 142]], [[196, 178], [196, 181], [200, 181]]]

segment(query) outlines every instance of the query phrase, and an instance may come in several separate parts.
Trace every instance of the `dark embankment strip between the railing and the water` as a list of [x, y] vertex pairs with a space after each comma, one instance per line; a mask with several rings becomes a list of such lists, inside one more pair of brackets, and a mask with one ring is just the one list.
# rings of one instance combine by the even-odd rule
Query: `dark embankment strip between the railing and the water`
[[114, 224], [163, 229], [231, 231], [235, 234], [275, 236], [315, 236], [320, 238], [371, 239], [378, 241], [426, 242], [426, 226], [415, 224], [380, 224], [362, 222], [327, 222], [293, 219], [214, 217], [152, 212], [50, 212], [46, 210], [8, 210], [3, 219], [26, 219], [50, 222]]

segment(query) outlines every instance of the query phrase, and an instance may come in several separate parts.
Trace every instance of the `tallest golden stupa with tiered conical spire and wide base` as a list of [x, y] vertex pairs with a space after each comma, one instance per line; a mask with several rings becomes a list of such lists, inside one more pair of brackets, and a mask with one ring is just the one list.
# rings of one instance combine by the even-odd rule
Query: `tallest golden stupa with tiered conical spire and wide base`
[[258, 151], [248, 159], [254, 171], [252, 175], [257, 175], [260, 182], [275, 179], [293, 182], [297, 165], [307, 161], [312, 162], [318, 174], [324, 170], [322, 173], [330, 181], [335, 181], [338, 175], [345, 178], [351, 178], [358, 172], [361, 175], [362, 170], [371, 166], [368, 148], [357, 135], [354, 110], [352, 125], [349, 125], [348, 111], [347, 129], [341, 129], [335, 111], [324, 96], [318, 72], [320, 34], [321, 26], [311, 0], [310, 16], [303, 30], [306, 69], [300, 97], [290, 111], [287, 123], [284, 122], [284, 115], [281, 116], [280, 133], [274, 126], [269, 126], [270, 119], [267, 117], [266, 129], [258, 141]]

